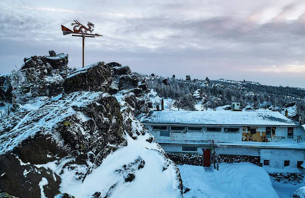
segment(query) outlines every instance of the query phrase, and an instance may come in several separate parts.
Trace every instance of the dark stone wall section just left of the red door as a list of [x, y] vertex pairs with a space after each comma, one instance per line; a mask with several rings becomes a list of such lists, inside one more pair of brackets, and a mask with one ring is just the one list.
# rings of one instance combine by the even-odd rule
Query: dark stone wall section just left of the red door
[[202, 154], [197, 153], [167, 153], [167, 156], [177, 165], [189, 164], [202, 166]]

